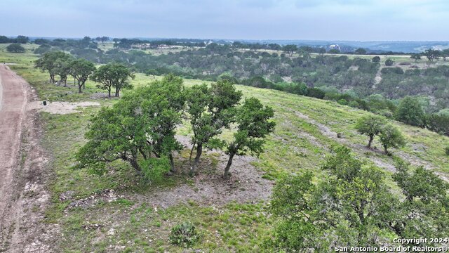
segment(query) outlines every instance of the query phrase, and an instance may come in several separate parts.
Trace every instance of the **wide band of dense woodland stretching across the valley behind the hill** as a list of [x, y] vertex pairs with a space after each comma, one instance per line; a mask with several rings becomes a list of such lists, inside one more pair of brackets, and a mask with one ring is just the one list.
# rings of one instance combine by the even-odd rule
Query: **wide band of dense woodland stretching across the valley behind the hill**
[[[366, 98], [380, 93], [389, 99], [404, 96], [435, 96], [433, 110], [449, 107], [449, 84], [445, 67], [429, 67], [426, 70], [410, 68], [403, 71], [398, 67], [390, 70], [394, 61], [387, 59], [382, 68], [380, 84], [375, 84], [375, 76], [381, 67], [380, 58], [349, 59], [347, 56], [311, 57], [313, 48], [307, 46], [292, 48], [283, 46], [284, 53], [267, 51], [239, 51], [232, 44], [209, 44], [198, 50], [183, 50], [152, 56], [139, 50], [122, 51], [114, 48], [102, 52], [95, 45], [81, 41], [66, 41], [59, 46], [41, 46], [35, 53], [60, 49], [74, 56], [86, 58], [94, 63], [118, 62], [132, 67], [136, 72], [152, 74], [177, 74], [185, 78], [217, 80], [222, 73], [236, 79], [261, 76], [273, 83], [304, 82], [308, 87], [324, 90], [337, 89], [340, 93], [351, 93], [353, 97]], [[91, 41], [86, 39], [84, 41]], [[58, 41], [56, 41], [58, 42]], [[53, 43], [56, 43], [53, 42]], [[60, 43], [62, 41], [59, 41]], [[95, 42], [91, 42], [95, 43]], [[244, 44], [243, 44], [244, 45]], [[237, 44], [239, 46], [239, 44]], [[277, 46], [272, 45], [277, 48]], [[290, 56], [290, 53], [299, 53]], [[401, 64], [401, 63], [396, 63]], [[436, 71], [435, 71], [436, 70]], [[349, 102], [349, 101], [348, 101]]]

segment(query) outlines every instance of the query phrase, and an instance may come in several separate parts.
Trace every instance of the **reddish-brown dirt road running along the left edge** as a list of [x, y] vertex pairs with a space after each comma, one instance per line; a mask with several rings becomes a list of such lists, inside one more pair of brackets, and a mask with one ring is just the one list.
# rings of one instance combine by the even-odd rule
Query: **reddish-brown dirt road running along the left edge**
[[51, 252], [44, 226], [48, 205], [39, 115], [29, 84], [0, 64], [0, 252]]

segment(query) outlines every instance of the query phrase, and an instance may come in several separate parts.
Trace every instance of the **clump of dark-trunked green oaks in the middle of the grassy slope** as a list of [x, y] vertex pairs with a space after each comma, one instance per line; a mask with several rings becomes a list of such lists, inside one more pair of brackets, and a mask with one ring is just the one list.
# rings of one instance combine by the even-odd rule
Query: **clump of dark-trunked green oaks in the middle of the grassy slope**
[[[76, 156], [81, 167], [97, 169], [123, 160], [149, 180], [168, 172], [164, 166], [168, 161], [175, 173], [173, 153], [184, 148], [175, 138], [176, 127], [182, 115], [187, 115], [193, 131], [189, 173], [196, 174], [204, 148], [225, 148], [229, 155], [223, 173], [226, 179], [234, 156], [262, 153], [264, 138], [275, 125], [272, 108], [257, 98], [241, 103], [241, 96], [241, 91], [225, 80], [185, 88], [180, 77], [167, 75], [94, 115], [86, 132], [88, 142]], [[234, 138], [220, 139], [232, 124]]]

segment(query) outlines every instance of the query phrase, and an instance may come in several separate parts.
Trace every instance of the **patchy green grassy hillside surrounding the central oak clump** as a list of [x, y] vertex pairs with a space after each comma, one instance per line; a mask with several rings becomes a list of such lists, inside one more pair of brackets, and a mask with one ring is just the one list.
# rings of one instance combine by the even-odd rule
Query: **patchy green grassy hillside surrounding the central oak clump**
[[[27, 53], [17, 54], [6, 53], [0, 47], [0, 62], [14, 63], [11, 68], [27, 79], [41, 100], [95, 100], [101, 105], [112, 105], [116, 101], [115, 98], [98, 98], [96, 95], [104, 91], [95, 88], [92, 82], [87, 83], [82, 94], [77, 93], [74, 86], [48, 84], [47, 74], [32, 69], [36, 56], [30, 49], [27, 46]], [[133, 84], [142, 86], [153, 80], [153, 77], [137, 74]], [[201, 83], [201, 80], [185, 79], [186, 86]], [[394, 150], [394, 156], [389, 157], [380, 150], [364, 148], [368, 139], [354, 130], [356, 120], [370, 112], [268, 89], [237, 88], [244, 96], [255, 96], [276, 112], [276, 130], [267, 140], [266, 151], [251, 162], [264, 179], [275, 181], [283, 174], [306, 170], [325, 176], [319, 165], [329, 155], [330, 147], [336, 144], [348, 145], [358, 157], [382, 165], [387, 175], [391, 174], [394, 157], [401, 157], [449, 177], [449, 157], [444, 154], [448, 137], [391, 122], [401, 129], [408, 144], [401, 150]], [[102, 176], [88, 169], [74, 169], [74, 153], [85, 142], [83, 133], [88, 119], [97, 110], [98, 107], [84, 108], [69, 115], [41, 113], [45, 131], [42, 145], [51, 156], [48, 169], [53, 174], [49, 186], [52, 204], [45, 221], [59, 224], [61, 235], [57, 247], [61, 252], [182, 252], [182, 248], [168, 241], [171, 228], [182, 221], [192, 221], [199, 229], [201, 240], [194, 249], [257, 252], [264, 240], [272, 236], [273, 221], [267, 215], [267, 201], [235, 200], [222, 204], [211, 200], [205, 205], [194, 197], [186, 197], [185, 201], [166, 207], [154, 204], [156, 193], [170, 193], [180, 186], [198, 190], [201, 180], [207, 183], [207, 179], [202, 179], [207, 175], [191, 179], [185, 174], [176, 174], [149, 184], [123, 162], [114, 162]], [[337, 133], [343, 138], [337, 138]], [[180, 127], [179, 135], [189, 134], [189, 128]], [[230, 136], [229, 131], [223, 134], [224, 138]], [[380, 148], [377, 141], [374, 145]], [[189, 148], [179, 155], [178, 167], [186, 166], [182, 158], [187, 156]], [[218, 151], [209, 150], [202, 166], [216, 171], [212, 173], [221, 173], [217, 157]], [[393, 184], [389, 177], [387, 180]], [[245, 190], [234, 188], [234, 191]], [[73, 203], [79, 205], [73, 206]]]

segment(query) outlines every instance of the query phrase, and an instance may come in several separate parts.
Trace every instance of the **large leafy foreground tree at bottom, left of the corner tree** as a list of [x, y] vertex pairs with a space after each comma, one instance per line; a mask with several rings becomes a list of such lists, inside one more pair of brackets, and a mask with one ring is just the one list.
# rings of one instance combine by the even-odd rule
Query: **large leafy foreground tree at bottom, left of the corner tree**
[[[377, 167], [338, 147], [314, 179], [311, 172], [276, 183], [270, 211], [276, 219], [274, 252], [331, 252], [335, 245], [374, 246], [389, 241], [389, 222], [398, 198]], [[314, 184], [314, 181], [319, 183]]]

